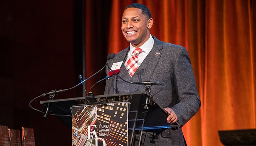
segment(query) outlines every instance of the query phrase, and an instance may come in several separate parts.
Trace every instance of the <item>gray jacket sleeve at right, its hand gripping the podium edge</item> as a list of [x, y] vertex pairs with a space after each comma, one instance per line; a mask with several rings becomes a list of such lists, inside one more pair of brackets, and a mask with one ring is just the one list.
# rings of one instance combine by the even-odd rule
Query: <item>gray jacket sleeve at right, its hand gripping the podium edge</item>
[[179, 102], [171, 109], [177, 114], [178, 120], [183, 126], [201, 106], [190, 58], [184, 47], [178, 52], [173, 76], [173, 85]]

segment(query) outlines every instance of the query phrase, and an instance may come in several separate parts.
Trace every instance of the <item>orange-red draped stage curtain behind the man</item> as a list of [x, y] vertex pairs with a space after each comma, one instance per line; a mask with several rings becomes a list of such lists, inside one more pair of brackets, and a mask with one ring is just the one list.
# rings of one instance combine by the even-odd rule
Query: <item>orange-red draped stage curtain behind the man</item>
[[[187, 144], [222, 146], [218, 130], [256, 128], [256, 1], [112, 0], [105, 14], [105, 56], [129, 45], [121, 34], [121, 16], [131, 3], [151, 11], [152, 35], [189, 52], [202, 107], [183, 127]], [[88, 27], [86, 31], [91, 47], [93, 32]], [[86, 62], [87, 70], [95, 65], [90, 57]]]

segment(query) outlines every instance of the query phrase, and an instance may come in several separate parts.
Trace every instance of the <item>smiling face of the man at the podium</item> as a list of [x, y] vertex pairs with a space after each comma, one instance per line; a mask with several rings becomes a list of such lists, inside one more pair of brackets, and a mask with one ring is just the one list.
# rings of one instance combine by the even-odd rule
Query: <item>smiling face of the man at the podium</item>
[[133, 47], [140, 47], [149, 39], [149, 29], [153, 25], [153, 19], [149, 19], [141, 12], [141, 9], [127, 8], [122, 17], [122, 33]]

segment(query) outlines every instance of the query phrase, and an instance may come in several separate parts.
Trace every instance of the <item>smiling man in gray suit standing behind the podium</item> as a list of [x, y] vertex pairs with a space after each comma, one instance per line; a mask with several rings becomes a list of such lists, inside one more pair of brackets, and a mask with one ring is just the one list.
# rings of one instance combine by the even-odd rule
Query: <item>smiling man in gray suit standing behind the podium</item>
[[[151, 13], [142, 4], [126, 7], [122, 16], [121, 31], [130, 45], [110, 60], [110, 67], [118, 62], [122, 65], [118, 72], [119, 77], [114, 75], [107, 79], [105, 94], [145, 91], [144, 85], [129, 84], [120, 77], [128, 82], [163, 82], [165, 88], [161, 91], [163, 86], [153, 85], [151, 95], [157, 93], [153, 97], [154, 101], [168, 112], [167, 123], [178, 121], [183, 126], [201, 105], [190, 58], [184, 47], [162, 42], [151, 36], [149, 30], [153, 23]], [[134, 50], [137, 55], [133, 54]], [[138, 62], [138, 65], [131, 62]], [[130, 68], [135, 70], [130, 71]], [[106, 73], [109, 72], [110, 69], [107, 68]], [[181, 128], [168, 128], [157, 133], [154, 142], [150, 137], [152, 135], [144, 135], [142, 145], [186, 145]]]

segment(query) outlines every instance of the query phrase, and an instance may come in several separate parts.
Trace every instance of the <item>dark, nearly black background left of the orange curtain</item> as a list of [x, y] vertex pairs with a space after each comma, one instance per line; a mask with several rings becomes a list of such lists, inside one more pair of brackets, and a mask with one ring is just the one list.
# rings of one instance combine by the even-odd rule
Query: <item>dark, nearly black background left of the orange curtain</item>
[[[102, 9], [110, 5], [91, 3], [97, 4]], [[0, 1], [0, 125], [34, 128], [37, 146], [71, 145], [71, 129], [57, 117], [43, 119], [40, 112], [29, 108], [29, 101], [79, 83], [84, 9], [83, 2], [75, 0]], [[97, 16], [104, 17], [104, 13]], [[82, 87], [54, 99], [75, 96], [82, 96]], [[36, 99], [32, 106], [41, 110], [39, 101], [47, 99]]]

